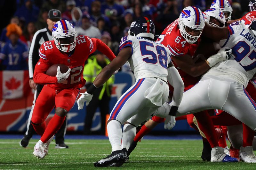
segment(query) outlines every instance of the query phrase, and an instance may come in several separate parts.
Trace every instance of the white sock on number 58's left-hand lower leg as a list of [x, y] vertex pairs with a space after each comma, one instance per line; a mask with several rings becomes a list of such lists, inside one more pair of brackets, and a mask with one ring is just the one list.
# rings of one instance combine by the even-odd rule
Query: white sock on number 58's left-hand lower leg
[[108, 139], [112, 146], [112, 152], [121, 150], [121, 139], [122, 139], [122, 126], [117, 120], [108, 122]]

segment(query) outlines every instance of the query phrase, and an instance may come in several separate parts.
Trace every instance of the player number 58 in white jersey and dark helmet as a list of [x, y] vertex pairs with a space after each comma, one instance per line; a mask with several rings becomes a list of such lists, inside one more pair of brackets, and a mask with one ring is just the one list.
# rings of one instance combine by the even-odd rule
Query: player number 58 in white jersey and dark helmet
[[184, 91], [183, 81], [172, 64], [170, 50], [163, 44], [152, 41], [154, 33], [154, 23], [148, 18], [140, 17], [132, 22], [128, 36], [123, 37], [120, 42], [120, 52], [116, 59], [100, 72], [77, 102], [78, 109], [83, 108], [85, 101], [87, 105], [93, 91], [128, 61], [136, 82], [121, 96], [110, 114], [107, 129], [112, 153], [95, 162], [96, 167], [121, 166], [124, 163], [126, 148], [129, 148], [135, 137], [136, 127], [167, 100], [167, 80], [174, 88], [173, 103], [176, 104], [173, 106], [180, 105]]

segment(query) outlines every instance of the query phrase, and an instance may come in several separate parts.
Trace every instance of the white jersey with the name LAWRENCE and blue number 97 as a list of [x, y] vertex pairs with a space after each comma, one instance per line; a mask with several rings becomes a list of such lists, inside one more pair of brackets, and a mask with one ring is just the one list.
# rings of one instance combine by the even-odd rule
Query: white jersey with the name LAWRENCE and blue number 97
[[227, 40], [221, 40], [220, 46], [232, 49], [232, 57], [213, 66], [206, 74], [226, 80], [236, 81], [247, 86], [256, 73], [256, 37], [241, 21], [228, 26]]

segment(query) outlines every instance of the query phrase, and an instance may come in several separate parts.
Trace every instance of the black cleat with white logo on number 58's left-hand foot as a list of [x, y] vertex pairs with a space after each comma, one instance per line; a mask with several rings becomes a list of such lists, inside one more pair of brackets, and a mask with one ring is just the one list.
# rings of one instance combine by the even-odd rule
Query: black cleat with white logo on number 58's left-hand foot
[[95, 162], [93, 165], [95, 167], [108, 167], [108, 166], [119, 167], [124, 164], [125, 159], [126, 159], [126, 152], [124, 152], [124, 150], [118, 150], [118, 151], [112, 152], [106, 158], [100, 159], [98, 162]]

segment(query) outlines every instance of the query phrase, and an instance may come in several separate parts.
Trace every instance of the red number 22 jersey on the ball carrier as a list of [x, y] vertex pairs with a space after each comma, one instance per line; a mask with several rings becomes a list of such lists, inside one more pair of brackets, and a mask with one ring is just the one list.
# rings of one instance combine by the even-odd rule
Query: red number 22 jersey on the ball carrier
[[[76, 47], [73, 54], [68, 55], [60, 51], [54, 41], [44, 42], [39, 49], [40, 59], [35, 67], [34, 81], [38, 84], [50, 84], [48, 86], [54, 89], [81, 88], [85, 84], [83, 78], [84, 62], [88, 56], [98, 48], [103, 54], [107, 55], [112, 61], [115, 58], [113, 52], [109, 49], [102, 51], [106, 45], [99, 39], [90, 39], [87, 36], [80, 35], [76, 38]], [[62, 83], [58, 83], [57, 77], [48, 76], [45, 72], [51, 65], [64, 64], [71, 71], [69, 77]]]

